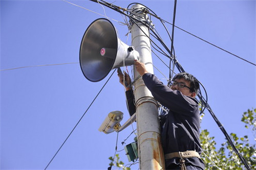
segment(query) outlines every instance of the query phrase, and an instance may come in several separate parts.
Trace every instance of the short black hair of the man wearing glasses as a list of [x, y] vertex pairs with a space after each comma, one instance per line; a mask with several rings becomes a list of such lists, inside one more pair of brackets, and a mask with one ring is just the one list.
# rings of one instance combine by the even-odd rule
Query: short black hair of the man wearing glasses
[[190, 92], [195, 92], [196, 95], [198, 94], [199, 90], [199, 81], [193, 75], [188, 74], [187, 72], [180, 72], [179, 74], [175, 75], [173, 81], [176, 79], [185, 79], [190, 83]]

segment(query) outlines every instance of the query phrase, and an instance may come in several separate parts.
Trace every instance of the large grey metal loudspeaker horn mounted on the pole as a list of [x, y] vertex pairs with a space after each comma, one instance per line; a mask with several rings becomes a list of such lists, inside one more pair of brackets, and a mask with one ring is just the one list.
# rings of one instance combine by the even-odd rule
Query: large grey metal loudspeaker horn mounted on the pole
[[98, 82], [123, 63], [133, 65], [135, 59], [139, 60], [139, 53], [117, 37], [108, 19], [96, 19], [83, 35], [79, 60], [83, 75], [89, 81]]

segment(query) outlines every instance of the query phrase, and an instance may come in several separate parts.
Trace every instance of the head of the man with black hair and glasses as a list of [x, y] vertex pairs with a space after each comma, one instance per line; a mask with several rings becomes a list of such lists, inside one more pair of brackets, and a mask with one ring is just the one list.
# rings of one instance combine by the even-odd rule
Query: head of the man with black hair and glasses
[[196, 98], [199, 90], [199, 81], [187, 72], [181, 72], [173, 78], [172, 90], [179, 90], [182, 94]]

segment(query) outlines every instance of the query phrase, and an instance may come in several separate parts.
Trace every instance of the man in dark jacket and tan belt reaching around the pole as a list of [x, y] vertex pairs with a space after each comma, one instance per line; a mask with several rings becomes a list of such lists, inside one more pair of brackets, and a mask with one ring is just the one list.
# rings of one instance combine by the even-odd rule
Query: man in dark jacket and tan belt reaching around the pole
[[[168, 88], [155, 75], [148, 72], [144, 63], [135, 60], [134, 66], [142, 77], [146, 87], [154, 98], [169, 109], [168, 114], [160, 117], [161, 140], [165, 157], [166, 169], [204, 169], [200, 159], [202, 148], [200, 145], [200, 114], [198, 102], [195, 100], [199, 90], [198, 80], [186, 72], [177, 74], [173, 84]], [[118, 74], [120, 83], [122, 74]], [[127, 84], [130, 78], [125, 74]], [[134, 102], [131, 88], [126, 87], [126, 98], [129, 112], [132, 115]], [[131, 113], [131, 111], [133, 113]]]

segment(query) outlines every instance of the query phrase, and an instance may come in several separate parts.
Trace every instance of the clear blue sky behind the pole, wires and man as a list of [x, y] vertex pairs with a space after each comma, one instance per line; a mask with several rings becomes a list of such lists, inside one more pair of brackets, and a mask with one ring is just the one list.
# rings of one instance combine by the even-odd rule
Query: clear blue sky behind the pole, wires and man
[[[107, 78], [93, 83], [84, 78], [79, 66], [79, 48], [84, 32], [98, 12], [122, 21], [123, 17], [90, 1], [0, 1], [1, 2], [1, 169], [44, 169], [89, 107]], [[136, 1], [172, 22], [173, 1]], [[111, 2], [112, 3], [112, 2]], [[133, 1], [115, 1], [126, 8]], [[178, 1], [176, 26], [193, 33], [250, 62], [255, 55], [255, 1]], [[167, 35], [152, 18], [155, 28], [170, 46]], [[111, 20], [119, 38], [127, 27]], [[166, 25], [169, 32], [172, 27]], [[252, 133], [244, 128], [241, 116], [255, 108], [256, 67], [175, 29], [174, 46], [183, 68], [204, 85], [208, 103], [228, 133]], [[163, 60], [168, 61], [164, 56]], [[61, 64], [63, 65], [49, 65]], [[166, 76], [168, 69], [153, 55], [153, 64]], [[46, 66], [36, 66], [46, 65]], [[19, 69], [9, 68], [33, 66]], [[130, 67], [129, 67], [130, 68]], [[111, 71], [112, 72], [112, 71]], [[157, 77], [164, 76], [156, 69]], [[126, 110], [124, 89], [116, 74], [104, 87], [48, 169], [106, 169], [115, 153], [117, 134], [98, 131], [106, 115]], [[220, 146], [224, 135], [208, 112], [202, 129], [208, 129]], [[119, 133], [121, 142], [136, 124]], [[132, 135], [126, 144], [133, 141]], [[125, 164], [124, 151], [118, 152]], [[132, 166], [137, 169], [137, 165]]]

